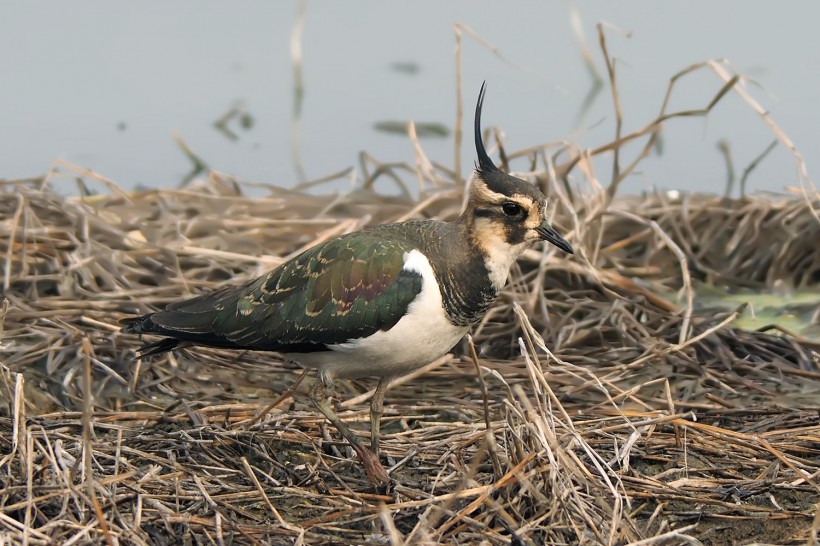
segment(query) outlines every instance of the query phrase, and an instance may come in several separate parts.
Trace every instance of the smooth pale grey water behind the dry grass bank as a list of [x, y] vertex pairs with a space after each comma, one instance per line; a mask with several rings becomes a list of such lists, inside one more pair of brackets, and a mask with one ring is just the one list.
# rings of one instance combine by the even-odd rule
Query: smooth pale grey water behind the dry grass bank
[[[190, 169], [172, 139], [177, 132], [214, 169], [293, 186], [300, 177], [290, 140], [290, 41], [301, 5], [0, 3], [0, 178], [39, 175], [54, 160], [65, 160], [127, 188], [175, 186]], [[675, 72], [725, 58], [759, 84], [748, 89], [793, 139], [812, 173], [820, 151], [818, 2], [366, 0], [307, 4], [298, 137], [304, 176], [358, 166], [361, 151], [412, 164], [406, 136], [374, 128], [383, 121], [448, 127], [448, 137], [424, 138], [422, 145], [431, 159], [454, 164], [454, 23], [473, 29], [507, 60], [464, 37], [467, 110], [487, 80], [485, 125], [503, 129], [507, 150], [561, 139], [584, 147], [608, 142], [614, 135], [608, 86], [582, 113], [591, 79], [570, 24], [573, 12], [602, 75], [595, 26], [612, 28], [608, 46], [617, 59], [625, 131], [657, 114]], [[673, 109], [703, 107], [721, 85], [712, 73], [698, 72], [676, 89]], [[238, 138], [232, 140], [213, 123], [235, 106], [252, 126], [234, 120], [229, 127]], [[465, 128], [470, 120], [468, 113]], [[717, 142], [729, 142], [740, 172], [773, 138], [737, 96], [727, 96], [708, 118], [670, 121], [662, 154], [647, 159], [624, 189], [721, 193], [726, 168]], [[469, 169], [469, 143], [461, 157]], [[608, 159], [597, 165], [606, 182]], [[55, 183], [73, 186], [70, 179]], [[794, 161], [783, 148], [749, 178], [752, 190], [796, 183]]]

